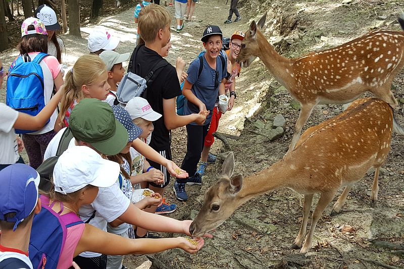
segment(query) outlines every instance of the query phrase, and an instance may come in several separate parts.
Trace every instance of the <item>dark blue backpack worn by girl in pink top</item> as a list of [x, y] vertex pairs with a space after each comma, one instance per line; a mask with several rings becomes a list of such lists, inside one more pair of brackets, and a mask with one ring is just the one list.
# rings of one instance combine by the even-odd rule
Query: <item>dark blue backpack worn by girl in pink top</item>
[[[31, 236], [29, 239], [29, 259], [33, 268], [56, 269], [63, 247], [66, 243], [67, 228], [82, 224], [83, 222], [74, 213], [60, 215], [63, 211], [55, 212], [49, 205], [49, 198], [41, 195], [42, 208], [34, 216]], [[95, 211], [93, 216], [95, 215]], [[93, 218], [93, 216], [91, 216]]]

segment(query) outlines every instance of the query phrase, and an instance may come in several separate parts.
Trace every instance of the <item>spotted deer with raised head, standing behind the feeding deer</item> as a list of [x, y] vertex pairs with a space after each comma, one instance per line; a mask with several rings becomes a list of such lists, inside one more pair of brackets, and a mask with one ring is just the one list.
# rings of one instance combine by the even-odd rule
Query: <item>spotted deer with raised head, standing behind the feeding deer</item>
[[[237, 61], [248, 67], [256, 57], [301, 104], [289, 153], [316, 104], [347, 103], [364, 92], [389, 103], [397, 100], [391, 82], [404, 65], [404, 33], [376, 30], [340, 46], [287, 59], [275, 51], [260, 29], [267, 15], [252, 21], [241, 43]], [[398, 21], [404, 30], [404, 13]]]

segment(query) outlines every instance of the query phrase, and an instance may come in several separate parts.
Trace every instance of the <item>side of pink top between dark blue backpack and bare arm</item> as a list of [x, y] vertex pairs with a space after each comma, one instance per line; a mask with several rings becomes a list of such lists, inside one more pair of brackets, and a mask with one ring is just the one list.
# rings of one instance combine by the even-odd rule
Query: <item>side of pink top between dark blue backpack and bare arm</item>
[[66, 269], [72, 266], [74, 251], [83, 235], [84, 228], [84, 223], [67, 228], [66, 243], [59, 257], [58, 267], [56, 269]]

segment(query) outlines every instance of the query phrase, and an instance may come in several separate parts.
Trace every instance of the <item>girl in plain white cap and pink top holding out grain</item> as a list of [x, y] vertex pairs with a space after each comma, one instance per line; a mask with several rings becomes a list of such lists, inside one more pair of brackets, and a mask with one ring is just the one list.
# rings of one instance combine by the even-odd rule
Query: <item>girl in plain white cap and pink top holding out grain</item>
[[[69, 213], [78, 215], [81, 206], [92, 203], [99, 187], [106, 188], [118, 184], [116, 179], [119, 171], [117, 163], [102, 158], [87, 146], [69, 148], [59, 157], [55, 166], [54, 188], [50, 193], [41, 195], [44, 196], [41, 197], [41, 201], [50, 204], [52, 210], [59, 212], [60, 216]], [[67, 228], [66, 247], [62, 250], [57, 269], [71, 266], [73, 257], [83, 251], [125, 255], [156, 253], [178, 247], [189, 253], [195, 253], [204, 245], [203, 239], [195, 241], [197, 245], [192, 245], [182, 237], [128, 239], [104, 232], [90, 224], [80, 223]]]

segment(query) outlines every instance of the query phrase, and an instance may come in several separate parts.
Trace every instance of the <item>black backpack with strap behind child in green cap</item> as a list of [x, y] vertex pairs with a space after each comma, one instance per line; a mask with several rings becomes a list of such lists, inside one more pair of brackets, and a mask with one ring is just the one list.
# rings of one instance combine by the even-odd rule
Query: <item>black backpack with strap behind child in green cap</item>
[[73, 134], [70, 128], [66, 128], [60, 139], [58, 150], [56, 151], [56, 156], [47, 158], [44, 162], [36, 169], [40, 176], [39, 189], [48, 192], [52, 188], [52, 177], [54, 173], [54, 168], [60, 155], [69, 147], [70, 140], [72, 140]]

